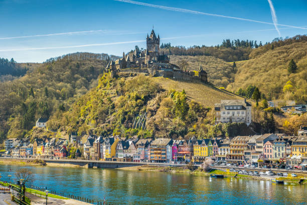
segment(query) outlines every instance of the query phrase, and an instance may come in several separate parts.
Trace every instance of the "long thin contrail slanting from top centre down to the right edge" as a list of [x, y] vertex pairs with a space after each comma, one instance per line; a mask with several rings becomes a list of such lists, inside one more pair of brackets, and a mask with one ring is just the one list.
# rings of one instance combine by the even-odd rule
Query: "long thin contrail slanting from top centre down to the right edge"
[[[189, 14], [198, 14], [198, 15], [206, 15], [206, 16], [214, 16], [214, 17], [223, 17], [223, 18], [228, 18], [228, 19], [236, 19], [236, 20], [249, 21], [249, 22], [261, 23], [261, 24], [274, 25], [274, 23], [270, 23], [270, 22], [263, 22], [263, 21], [257, 21], [257, 20], [252, 20], [252, 19], [244, 19], [244, 18], [239, 18], [239, 17], [230, 17], [230, 16], [219, 15], [219, 14], [209, 14], [209, 13], [198, 12], [198, 11], [193, 11], [193, 10], [188, 10], [188, 9], [181, 9], [181, 8], [175, 8], [175, 7], [166, 7], [166, 6], [161, 6], [161, 5], [153, 5], [153, 4], [147, 4], [147, 3], [142, 3], [142, 2], [135, 2], [131, 0], [113, 0], [113, 1], [141, 5], [145, 7], [154, 7], [154, 8], [164, 9], [164, 10], [169, 10], [169, 11], [174, 11], [174, 12], [183, 12], [183, 13], [189, 13]], [[307, 29], [303, 27], [290, 26], [290, 25], [284, 25], [284, 24], [276, 24], [276, 25], [291, 27], [291, 28], [296, 28], [296, 29]]]

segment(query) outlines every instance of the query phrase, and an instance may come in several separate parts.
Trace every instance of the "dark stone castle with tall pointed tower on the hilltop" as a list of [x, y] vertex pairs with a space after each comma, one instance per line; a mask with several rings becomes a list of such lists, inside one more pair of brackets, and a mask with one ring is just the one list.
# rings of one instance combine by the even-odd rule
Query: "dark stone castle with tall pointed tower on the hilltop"
[[199, 71], [183, 71], [179, 66], [170, 63], [170, 57], [160, 52], [160, 36], [154, 29], [146, 37], [146, 50], [135, 48], [133, 53], [125, 55], [115, 61], [108, 62], [105, 72], [116, 76], [120, 72], [149, 73], [155, 76], [169, 77], [172, 79], [196, 79], [207, 83], [207, 72], [200, 66]]

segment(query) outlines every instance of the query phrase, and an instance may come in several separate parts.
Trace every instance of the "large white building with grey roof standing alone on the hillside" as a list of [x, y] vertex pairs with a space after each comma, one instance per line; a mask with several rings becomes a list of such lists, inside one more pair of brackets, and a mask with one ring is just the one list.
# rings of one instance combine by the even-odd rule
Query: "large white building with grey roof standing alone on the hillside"
[[215, 104], [216, 121], [215, 123], [252, 123], [252, 106], [246, 99], [228, 99], [221, 100], [220, 104]]

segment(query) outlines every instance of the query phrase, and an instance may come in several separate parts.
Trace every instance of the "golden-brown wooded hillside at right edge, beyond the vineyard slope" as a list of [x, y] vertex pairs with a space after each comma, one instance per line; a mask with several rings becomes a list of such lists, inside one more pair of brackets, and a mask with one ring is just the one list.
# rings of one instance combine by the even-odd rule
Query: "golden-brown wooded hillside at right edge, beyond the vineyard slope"
[[[289, 73], [290, 60], [297, 64], [297, 71]], [[267, 99], [290, 99], [307, 102], [307, 37], [296, 36], [284, 41], [272, 42], [254, 49], [250, 59], [237, 62], [234, 82], [228, 90], [257, 86]], [[290, 82], [288, 82], [290, 81]], [[284, 89], [286, 83], [290, 89]]]

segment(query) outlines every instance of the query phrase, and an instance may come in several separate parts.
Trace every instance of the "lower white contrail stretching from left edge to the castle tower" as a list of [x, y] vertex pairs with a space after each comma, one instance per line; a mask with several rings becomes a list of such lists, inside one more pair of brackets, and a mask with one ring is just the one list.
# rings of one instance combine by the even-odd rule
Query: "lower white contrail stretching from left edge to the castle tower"
[[48, 50], [48, 49], [61, 49], [61, 48], [81, 48], [81, 47], [90, 47], [90, 46], [107, 46], [107, 45], [116, 45], [116, 44], [140, 43], [140, 42], [145, 42], [145, 40], [139, 40], [139, 41], [123, 41], [123, 42], [113, 42], [113, 43], [86, 44], [86, 45], [76, 45], [76, 46], [60, 46], [60, 47], [14, 48], [14, 49], [2, 49], [2, 50], [0, 50], [0, 52], [7, 52], [7, 51], [30, 51], [30, 50]]

